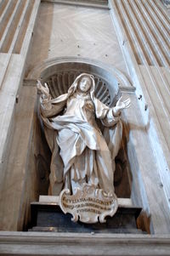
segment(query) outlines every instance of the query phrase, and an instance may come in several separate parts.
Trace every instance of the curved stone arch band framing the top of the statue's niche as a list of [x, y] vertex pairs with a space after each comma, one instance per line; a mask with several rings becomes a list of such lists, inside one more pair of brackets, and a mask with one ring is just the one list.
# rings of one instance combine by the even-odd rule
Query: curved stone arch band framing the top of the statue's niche
[[44, 60], [40, 65], [35, 66], [28, 74], [26, 79], [42, 79], [42, 82], [48, 77], [52, 77], [59, 72], [81, 73], [87, 72], [100, 77], [105, 82], [109, 89], [117, 91], [118, 88], [126, 88], [129, 91], [134, 90], [132, 83], [127, 77], [118, 71], [112, 65], [106, 65], [98, 60], [77, 57], [62, 57], [50, 60]]

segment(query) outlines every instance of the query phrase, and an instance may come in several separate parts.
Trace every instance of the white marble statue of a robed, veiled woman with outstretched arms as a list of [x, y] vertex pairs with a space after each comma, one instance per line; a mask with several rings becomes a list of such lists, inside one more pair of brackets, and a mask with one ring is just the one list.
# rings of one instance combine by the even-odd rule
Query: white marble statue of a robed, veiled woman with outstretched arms
[[[42, 93], [41, 116], [48, 145], [52, 151], [50, 190], [59, 195], [63, 189], [94, 185], [106, 193], [114, 192], [115, 157], [122, 139], [122, 109], [130, 100], [118, 100], [109, 108], [94, 97], [94, 77], [83, 73], [67, 94], [51, 99], [48, 85], [37, 82]], [[96, 118], [105, 127], [100, 131]]]

